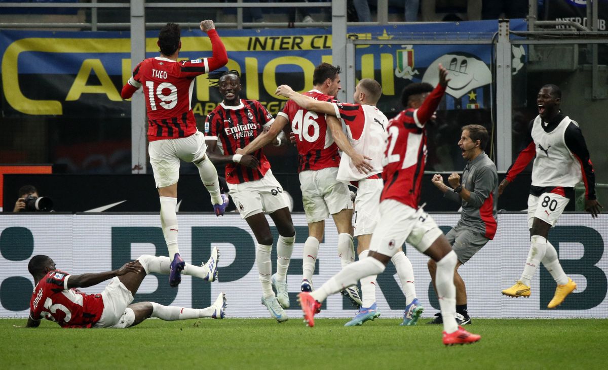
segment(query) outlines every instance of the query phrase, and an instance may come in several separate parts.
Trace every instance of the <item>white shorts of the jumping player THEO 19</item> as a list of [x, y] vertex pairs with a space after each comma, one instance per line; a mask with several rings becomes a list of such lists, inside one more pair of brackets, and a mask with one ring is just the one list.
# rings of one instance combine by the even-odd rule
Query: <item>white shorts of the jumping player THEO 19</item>
[[207, 145], [201, 131], [188, 137], [150, 142], [148, 154], [156, 188], [173, 185], [179, 180], [179, 161], [196, 162], [205, 155]]

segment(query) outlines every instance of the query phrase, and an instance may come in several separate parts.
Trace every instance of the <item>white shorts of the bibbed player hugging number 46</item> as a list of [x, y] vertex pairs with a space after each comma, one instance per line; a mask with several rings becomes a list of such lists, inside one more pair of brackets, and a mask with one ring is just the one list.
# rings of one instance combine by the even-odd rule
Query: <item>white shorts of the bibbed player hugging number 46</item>
[[359, 180], [354, 199], [354, 236], [373, 234], [380, 218], [382, 179]]

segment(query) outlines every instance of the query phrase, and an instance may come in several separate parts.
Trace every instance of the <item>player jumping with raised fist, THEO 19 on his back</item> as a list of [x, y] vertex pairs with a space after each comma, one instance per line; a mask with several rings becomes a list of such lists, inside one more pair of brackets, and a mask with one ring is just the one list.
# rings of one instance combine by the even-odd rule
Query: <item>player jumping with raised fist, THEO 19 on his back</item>
[[223, 215], [228, 205], [228, 197], [219, 192], [215, 166], [205, 156], [204, 135], [196, 128], [190, 106], [195, 77], [224, 66], [228, 56], [213, 21], [202, 21], [200, 27], [211, 40], [211, 58], [178, 61], [182, 47], [181, 32], [178, 24], [167, 23], [158, 35], [157, 45], [161, 49], [161, 56], [137, 64], [133, 77], [120, 94], [123, 99], [131, 98], [140, 86], [144, 86], [147, 97], [148, 153], [161, 200], [162, 233], [167, 242], [169, 257], [173, 259], [169, 275], [171, 287], [181, 283], [181, 271], [185, 266], [184, 259], [179, 254], [176, 216], [179, 161], [196, 165], [202, 183], [211, 195], [216, 216]]

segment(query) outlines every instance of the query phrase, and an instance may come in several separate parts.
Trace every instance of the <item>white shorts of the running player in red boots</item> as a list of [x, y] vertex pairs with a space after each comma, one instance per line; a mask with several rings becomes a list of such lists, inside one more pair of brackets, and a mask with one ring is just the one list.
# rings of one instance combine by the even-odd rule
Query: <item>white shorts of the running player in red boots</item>
[[397, 200], [380, 204], [380, 221], [371, 236], [370, 250], [394, 256], [407, 241], [424, 253], [443, 232], [422, 208], [415, 210]]

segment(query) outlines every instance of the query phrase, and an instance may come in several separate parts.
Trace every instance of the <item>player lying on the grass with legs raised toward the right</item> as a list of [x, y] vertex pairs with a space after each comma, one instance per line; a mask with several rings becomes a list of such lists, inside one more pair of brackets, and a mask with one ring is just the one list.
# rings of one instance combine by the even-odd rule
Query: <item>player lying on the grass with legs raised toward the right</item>
[[[217, 255], [213, 248], [211, 258], [203, 266], [186, 264], [184, 273], [207, 281], [217, 278]], [[100, 273], [70, 275], [58, 270], [49, 256], [36, 255], [30, 259], [27, 270], [34, 278], [34, 291], [30, 300], [27, 327], [38, 327], [40, 320], [55, 321], [61, 327], [112, 327], [123, 329], [136, 326], [149, 317], [165, 321], [190, 318], [224, 318], [226, 296], [219, 293], [212, 306], [204, 309], [167, 307], [154, 302], [133, 302], [133, 296], [148, 273], [170, 272], [168, 257], [142, 255], [137, 261], [126, 263], [118, 270]], [[99, 294], [78, 290], [111, 279]]]

